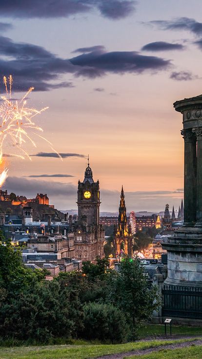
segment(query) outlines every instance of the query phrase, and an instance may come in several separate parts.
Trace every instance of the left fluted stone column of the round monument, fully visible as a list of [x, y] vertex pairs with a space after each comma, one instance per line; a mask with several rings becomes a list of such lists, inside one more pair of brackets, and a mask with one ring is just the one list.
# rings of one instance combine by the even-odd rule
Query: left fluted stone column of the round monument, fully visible
[[196, 222], [196, 136], [182, 130], [184, 139], [184, 225]]

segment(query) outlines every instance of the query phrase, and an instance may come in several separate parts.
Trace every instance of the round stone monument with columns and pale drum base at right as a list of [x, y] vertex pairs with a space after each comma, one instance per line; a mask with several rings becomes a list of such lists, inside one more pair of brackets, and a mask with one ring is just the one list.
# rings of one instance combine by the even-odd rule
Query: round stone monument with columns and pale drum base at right
[[202, 288], [202, 95], [174, 103], [183, 116], [183, 226], [163, 243], [168, 254], [165, 284]]

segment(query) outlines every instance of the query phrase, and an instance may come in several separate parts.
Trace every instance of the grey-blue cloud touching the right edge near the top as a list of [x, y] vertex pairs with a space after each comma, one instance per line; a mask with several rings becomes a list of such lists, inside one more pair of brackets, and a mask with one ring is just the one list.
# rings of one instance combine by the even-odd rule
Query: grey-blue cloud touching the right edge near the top
[[202, 22], [190, 18], [178, 18], [174, 20], [149, 21], [150, 24], [162, 30], [187, 30], [195, 35], [202, 35]]

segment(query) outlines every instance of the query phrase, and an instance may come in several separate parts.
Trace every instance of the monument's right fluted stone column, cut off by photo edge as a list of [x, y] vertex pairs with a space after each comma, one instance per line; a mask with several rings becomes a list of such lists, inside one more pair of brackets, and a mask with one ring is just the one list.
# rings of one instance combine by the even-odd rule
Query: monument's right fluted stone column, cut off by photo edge
[[202, 127], [192, 130], [197, 137], [197, 223], [202, 226]]

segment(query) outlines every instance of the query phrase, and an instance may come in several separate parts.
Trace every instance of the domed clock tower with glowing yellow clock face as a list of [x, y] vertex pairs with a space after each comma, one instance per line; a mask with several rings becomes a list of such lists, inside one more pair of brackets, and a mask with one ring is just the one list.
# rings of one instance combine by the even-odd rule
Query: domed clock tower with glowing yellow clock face
[[94, 182], [93, 172], [89, 165], [85, 170], [84, 180], [78, 183], [78, 219], [87, 219], [90, 225], [98, 226], [100, 222], [100, 186]]

